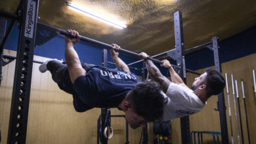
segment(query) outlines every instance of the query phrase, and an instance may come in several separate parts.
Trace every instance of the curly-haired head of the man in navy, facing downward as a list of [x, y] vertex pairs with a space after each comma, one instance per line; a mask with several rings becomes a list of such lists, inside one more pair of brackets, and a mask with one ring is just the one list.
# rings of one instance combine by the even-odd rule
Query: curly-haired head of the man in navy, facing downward
[[160, 85], [156, 82], [139, 82], [126, 96], [125, 118], [131, 128], [144, 128], [146, 122], [160, 120], [167, 99], [161, 94]]

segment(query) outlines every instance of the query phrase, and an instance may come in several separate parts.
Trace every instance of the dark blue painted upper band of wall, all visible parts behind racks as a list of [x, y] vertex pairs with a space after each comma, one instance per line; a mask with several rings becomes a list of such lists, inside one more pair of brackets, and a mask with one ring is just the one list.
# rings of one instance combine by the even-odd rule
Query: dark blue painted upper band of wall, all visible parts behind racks
[[[7, 24], [7, 27], [8, 25], [9, 22]], [[18, 27], [15, 26], [14, 29], [12, 29], [11, 35], [7, 39], [7, 43], [5, 44], [4, 48], [16, 51], [17, 45]], [[121, 46], [121, 44], [117, 45]], [[234, 35], [233, 37], [221, 41], [219, 43], [219, 46], [220, 58], [222, 63], [236, 60], [238, 58], [248, 56], [249, 54], [256, 53], [256, 26], [247, 29], [247, 31], [239, 33], [238, 35]], [[35, 46], [34, 54], [36, 56], [43, 56], [46, 58], [65, 60], [64, 48], [64, 37], [58, 36], [42, 46]], [[75, 50], [77, 51], [81, 62], [101, 65], [102, 48], [97, 48], [93, 45], [88, 45], [85, 43], [77, 43], [75, 45]], [[119, 54], [119, 58], [121, 58], [125, 63], [132, 63], [138, 60], [136, 58], [131, 58], [123, 54]], [[186, 68], [194, 71], [214, 65], [213, 51], [209, 50], [209, 48], [204, 48], [202, 50], [186, 54], [185, 58]], [[108, 62], [113, 62], [109, 51]], [[174, 60], [171, 60], [171, 63], [176, 64]], [[160, 68], [160, 71], [163, 75], [169, 77], [169, 75], [167, 75], [167, 69], [165, 67], [160, 67], [159, 64], [156, 65]], [[108, 67], [113, 68], [115, 67], [115, 65], [108, 64]], [[142, 67], [142, 63], [137, 63], [135, 65], [132, 65], [132, 67], [137, 67], [140, 69]], [[131, 72], [139, 76], [141, 75], [141, 71], [135, 69], [131, 69]]]

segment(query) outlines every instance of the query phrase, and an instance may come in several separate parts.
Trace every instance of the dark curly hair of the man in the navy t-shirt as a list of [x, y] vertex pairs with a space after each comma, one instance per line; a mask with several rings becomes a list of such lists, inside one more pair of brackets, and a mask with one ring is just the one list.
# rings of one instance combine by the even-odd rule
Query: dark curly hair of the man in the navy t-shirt
[[160, 120], [163, 116], [163, 107], [167, 103], [167, 99], [161, 94], [160, 84], [149, 81], [137, 83], [129, 92], [127, 99], [131, 101], [135, 113], [147, 122]]

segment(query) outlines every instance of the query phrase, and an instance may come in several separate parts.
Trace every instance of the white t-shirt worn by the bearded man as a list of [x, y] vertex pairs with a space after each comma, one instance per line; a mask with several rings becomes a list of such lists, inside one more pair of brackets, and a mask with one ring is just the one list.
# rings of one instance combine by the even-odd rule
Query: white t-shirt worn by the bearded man
[[168, 102], [163, 109], [163, 121], [198, 113], [205, 106], [193, 90], [173, 82], [169, 85], [166, 96]]

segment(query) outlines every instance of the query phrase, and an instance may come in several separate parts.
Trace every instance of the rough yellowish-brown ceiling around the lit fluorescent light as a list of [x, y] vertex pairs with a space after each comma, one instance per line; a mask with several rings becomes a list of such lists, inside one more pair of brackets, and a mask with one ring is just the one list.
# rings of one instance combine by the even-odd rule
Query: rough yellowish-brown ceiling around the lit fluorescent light
[[[0, 9], [14, 13], [20, 0], [1, 0]], [[67, 0], [40, 0], [39, 22], [80, 35], [116, 43], [150, 56], [175, 48], [173, 13], [182, 12], [185, 49], [222, 41], [256, 26], [255, 0], [73, 0], [99, 14], [127, 25], [125, 29], [102, 23], [66, 7]]]

